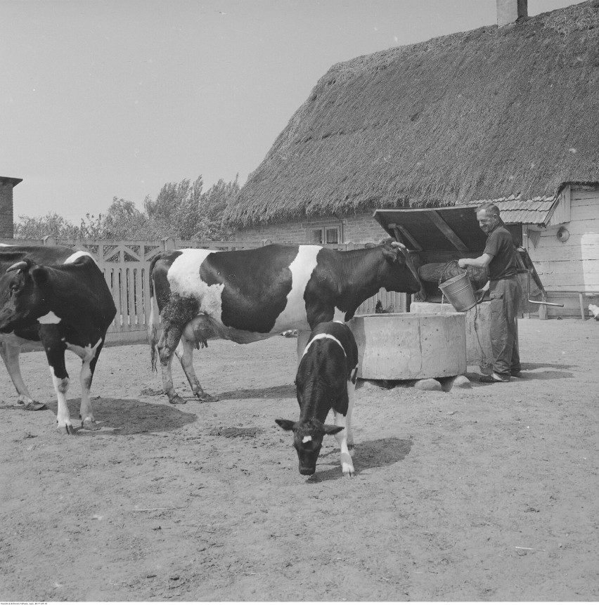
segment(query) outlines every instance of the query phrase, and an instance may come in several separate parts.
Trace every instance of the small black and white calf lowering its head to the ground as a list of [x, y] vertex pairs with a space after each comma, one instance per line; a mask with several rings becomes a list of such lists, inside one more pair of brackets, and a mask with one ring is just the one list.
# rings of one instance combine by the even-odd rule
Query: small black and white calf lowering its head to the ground
[[[335, 435], [343, 474], [354, 476], [352, 410], [357, 372], [358, 346], [352, 330], [341, 321], [318, 324], [310, 334], [295, 377], [299, 420], [275, 420], [285, 431], [293, 431], [302, 475], [314, 474], [323, 437]], [[335, 424], [324, 424], [330, 410], [335, 414]]]

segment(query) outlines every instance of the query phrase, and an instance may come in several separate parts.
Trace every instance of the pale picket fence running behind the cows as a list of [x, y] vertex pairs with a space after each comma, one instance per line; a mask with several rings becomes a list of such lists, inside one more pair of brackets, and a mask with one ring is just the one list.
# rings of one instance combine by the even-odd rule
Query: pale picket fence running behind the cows
[[[117, 307], [117, 315], [108, 330], [106, 344], [134, 344], [147, 339], [150, 319], [150, 285], [148, 280], [150, 262], [164, 250], [182, 248], [203, 248], [212, 250], [243, 250], [262, 247], [272, 243], [261, 242], [212, 242], [183, 241], [174, 238], [165, 240], [67, 240], [50, 237], [41, 240], [0, 240], [11, 245], [60, 245], [89, 252], [101, 271]], [[328, 245], [334, 249], [347, 250], [361, 248], [361, 245]], [[357, 313], [375, 312], [377, 301], [387, 311], [404, 311], [406, 294], [380, 290], [359, 307]]]

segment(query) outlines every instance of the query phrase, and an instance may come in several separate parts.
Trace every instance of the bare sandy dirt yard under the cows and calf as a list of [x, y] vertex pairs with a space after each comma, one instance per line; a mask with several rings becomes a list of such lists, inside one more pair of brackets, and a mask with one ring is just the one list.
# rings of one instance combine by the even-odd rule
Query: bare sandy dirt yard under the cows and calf
[[[520, 320], [527, 377], [356, 391], [354, 479], [297, 471], [295, 339], [196, 353], [216, 403], [173, 408], [147, 346], [105, 349], [101, 431], [56, 432], [0, 368], [0, 601], [599, 599], [599, 323]], [[79, 415], [79, 360], [68, 356]], [[175, 383], [190, 391], [177, 364]]]

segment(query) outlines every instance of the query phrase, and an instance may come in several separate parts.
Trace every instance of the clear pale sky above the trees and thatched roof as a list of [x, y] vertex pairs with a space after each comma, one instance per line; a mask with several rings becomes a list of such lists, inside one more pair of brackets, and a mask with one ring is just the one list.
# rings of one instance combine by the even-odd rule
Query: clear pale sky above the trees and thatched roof
[[0, 0], [15, 221], [143, 209], [200, 175], [243, 185], [335, 63], [495, 22], [496, 0]]

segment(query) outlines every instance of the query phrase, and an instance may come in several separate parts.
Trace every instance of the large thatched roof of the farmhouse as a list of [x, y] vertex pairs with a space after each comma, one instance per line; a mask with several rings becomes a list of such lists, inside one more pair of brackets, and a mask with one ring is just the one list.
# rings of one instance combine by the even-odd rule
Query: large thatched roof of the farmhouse
[[599, 181], [599, 0], [333, 65], [250, 174], [239, 227]]

